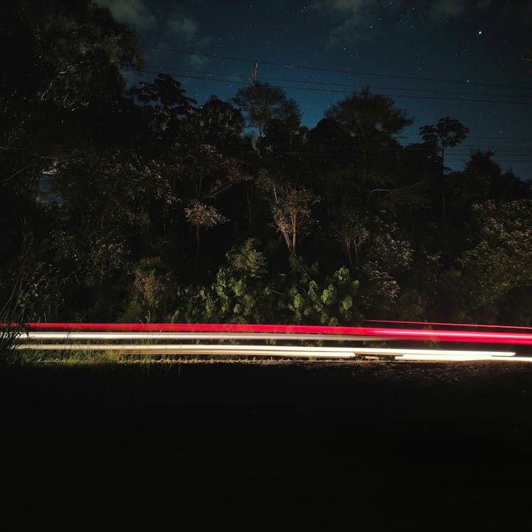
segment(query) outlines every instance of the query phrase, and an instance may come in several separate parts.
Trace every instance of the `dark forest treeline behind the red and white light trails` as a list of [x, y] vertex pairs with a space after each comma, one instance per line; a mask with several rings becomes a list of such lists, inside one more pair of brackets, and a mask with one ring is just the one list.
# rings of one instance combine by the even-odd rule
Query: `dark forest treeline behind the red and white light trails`
[[0, 295], [28, 320], [532, 325], [532, 194], [368, 87], [203, 105], [87, 0], [0, 8]]

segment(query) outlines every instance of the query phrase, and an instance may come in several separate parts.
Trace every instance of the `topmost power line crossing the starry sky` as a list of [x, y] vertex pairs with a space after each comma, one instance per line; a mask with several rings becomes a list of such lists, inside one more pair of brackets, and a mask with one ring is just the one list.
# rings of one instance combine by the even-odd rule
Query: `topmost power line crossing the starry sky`
[[[245, 63], [255, 63], [255, 60], [243, 59], [242, 57], [230, 57], [226, 55], [216, 55], [208, 54], [204, 52], [192, 52], [190, 50], [180, 50], [177, 48], [163, 48], [160, 46], [147, 46], [143, 45], [142, 48], [147, 48], [148, 50], [161, 50], [164, 52], [175, 52], [184, 55], [199, 55], [201, 57], [211, 57], [212, 59], [226, 60], [226, 61], [238, 61]], [[279, 63], [273, 61], [259, 61], [261, 65], [269, 65], [275, 67], [283, 68], [297, 68], [300, 70], [316, 70], [319, 72], [336, 72], [339, 74], [356, 74], [358, 76], [373, 76], [373, 77], [391, 77], [397, 79], [417, 79], [419, 81], [425, 82], [438, 82], [438, 83], [452, 83], [452, 84], [465, 84], [465, 85], [475, 85], [478, 87], [498, 87], [500, 89], [523, 89], [523, 90], [532, 90], [532, 87], [523, 87], [519, 85], [501, 85], [501, 84], [491, 84], [491, 83], [480, 83], [480, 82], [462, 82], [455, 79], [443, 79], [443, 78], [434, 78], [434, 77], [419, 77], [419, 76], [403, 76], [399, 74], [379, 74], [376, 72], [360, 72], [356, 70], [341, 70], [336, 68], [324, 68], [324, 67], [312, 67], [309, 65], [287, 65], [286, 63]]]

